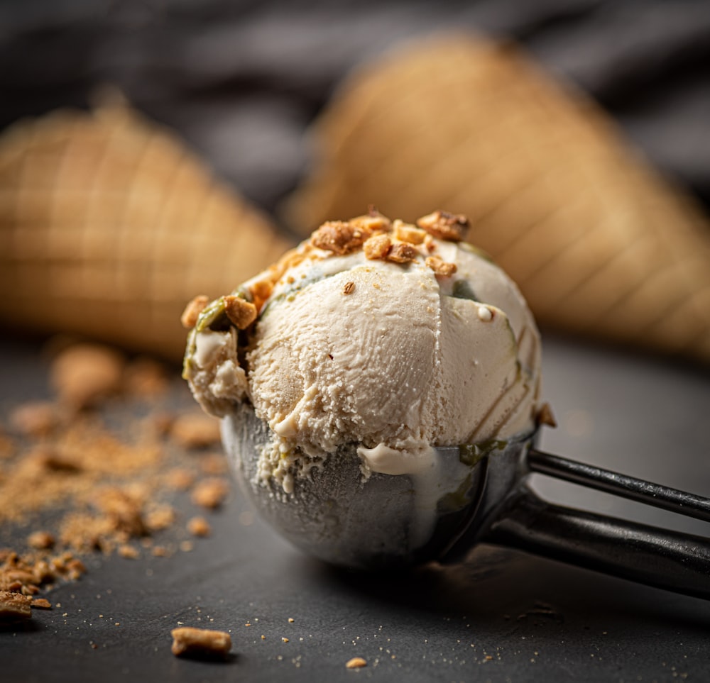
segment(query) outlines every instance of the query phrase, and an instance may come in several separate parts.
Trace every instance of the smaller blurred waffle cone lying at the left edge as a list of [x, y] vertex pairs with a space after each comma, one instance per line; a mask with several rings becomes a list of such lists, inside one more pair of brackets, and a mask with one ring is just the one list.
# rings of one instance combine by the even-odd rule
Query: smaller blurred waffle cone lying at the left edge
[[126, 106], [0, 140], [0, 315], [177, 359], [180, 313], [288, 247], [170, 133]]

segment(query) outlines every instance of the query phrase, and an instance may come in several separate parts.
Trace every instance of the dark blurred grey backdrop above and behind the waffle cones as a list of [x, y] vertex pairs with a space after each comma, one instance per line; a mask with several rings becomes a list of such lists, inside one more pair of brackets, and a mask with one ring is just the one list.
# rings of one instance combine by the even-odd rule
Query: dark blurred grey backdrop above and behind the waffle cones
[[343, 77], [446, 29], [525, 45], [710, 206], [707, 0], [1, 0], [0, 128], [114, 84], [273, 211]]

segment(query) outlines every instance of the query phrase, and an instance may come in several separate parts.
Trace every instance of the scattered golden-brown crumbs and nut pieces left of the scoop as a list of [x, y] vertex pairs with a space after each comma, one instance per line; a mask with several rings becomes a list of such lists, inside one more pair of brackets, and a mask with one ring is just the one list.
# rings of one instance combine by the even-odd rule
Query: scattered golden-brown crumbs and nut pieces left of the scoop
[[[182, 492], [214, 509], [229, 483], [217, 420], [175, 413], [170, 375], [149, 359], [132, 362], [99, 345], [62, 350], [50, 369], [55, 399], [11, 406], [0, 421], [0, 619], [49, 609], [35, 594], [76, 581], [81, 556], [154, 557], [173, 543], [153, 535], [185, 518], [170, 504]], [[206, 478], [203, 478], [206, 477]], [[195, 510], [197, 513], [197, 510]], [[209, 535], [195, 515], [193, 538]], [[190, 542], [192, 543], [192, 542]], [[3, 548], [4, 545], [9, 547]]]

